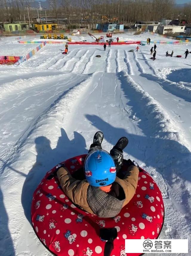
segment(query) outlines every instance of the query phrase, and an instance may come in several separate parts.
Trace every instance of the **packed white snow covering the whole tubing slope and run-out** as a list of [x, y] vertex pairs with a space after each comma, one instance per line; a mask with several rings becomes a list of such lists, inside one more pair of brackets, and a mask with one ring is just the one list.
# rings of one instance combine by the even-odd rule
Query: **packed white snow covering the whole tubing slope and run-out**
[[[0, 40], [0, 55], [36, 47], [15, 40]], [[129, 52], [135, 48], [69, 45], [63, 55], [64, 45], [47, 44], [19, 66], [0, 66], [0, 255], [51, 255], [31, 225], [33, 192], [57, 163], [87, 153], [98, 130], [107, 151], [126, 136], [124, 158], [158, 184], [165, 205], [160, 238], [190, 240], [191, 55], [184, 52], [191, 44], [158, 44], [155, 61], [151, 45]]]

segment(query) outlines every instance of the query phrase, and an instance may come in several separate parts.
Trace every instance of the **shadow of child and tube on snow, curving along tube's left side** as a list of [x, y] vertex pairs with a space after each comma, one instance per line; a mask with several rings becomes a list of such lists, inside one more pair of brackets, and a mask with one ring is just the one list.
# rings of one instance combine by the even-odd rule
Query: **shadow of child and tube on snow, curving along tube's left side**
[[61, 136], [58, 138], [55, 149], [51, 148], [50, 140], [44, 136], [35, 139], [36, 144], [36, 163], [28, 173], [22, 188], [21, 203], [24, 214], [31, 223], [30, 208], [33, 193], [45, 174], [64, 160], [87, 153], [84, 137], [74, 131], [73, 140], [69, 140], [66, 132], [61, 128]]

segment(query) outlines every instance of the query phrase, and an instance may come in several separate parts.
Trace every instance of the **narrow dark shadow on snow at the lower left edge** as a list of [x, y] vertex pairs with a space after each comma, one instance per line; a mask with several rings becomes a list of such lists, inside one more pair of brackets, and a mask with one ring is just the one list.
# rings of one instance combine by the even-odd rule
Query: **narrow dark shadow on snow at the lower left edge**
[[3, 203], [3, 193], [0, 188], [0, 255], [15, 256], [13, 241], [8, 227], [8, 216]]

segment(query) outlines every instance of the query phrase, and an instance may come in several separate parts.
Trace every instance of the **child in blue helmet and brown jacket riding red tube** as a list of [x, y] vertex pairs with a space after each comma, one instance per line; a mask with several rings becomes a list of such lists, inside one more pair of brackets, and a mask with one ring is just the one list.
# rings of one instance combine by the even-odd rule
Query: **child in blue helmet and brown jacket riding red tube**
[[124, 177], [116, 177], [123, 165], [123, 149], [128, 139], [120, 138], [109, 154], [101, 148], [103, 138], [100, 131], [94, 135], [84, 163], [86, 179], [74, 178], [63, 164], [56, 166], [56, 172], [64, 193], [74, 204], [101, 218], [111, 218], [133, 198], [139, 169], [129, 160], [130, 166]]

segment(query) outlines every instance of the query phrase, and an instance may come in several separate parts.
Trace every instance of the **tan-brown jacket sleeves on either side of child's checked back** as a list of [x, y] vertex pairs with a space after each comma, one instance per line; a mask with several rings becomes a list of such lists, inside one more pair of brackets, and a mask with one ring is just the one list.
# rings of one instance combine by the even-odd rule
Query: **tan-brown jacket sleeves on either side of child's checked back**
[[[123, 207], [128, 204], [135, 194], [138, 183], [138, 173], [139, 170], [137, 166], [131, 165], [127, 169], [128, 176], [126, 175], [124, 179], [120, 179], [118, 177], [115, 178], [114, 182], [119, 184], [125, 193]], [[63, 167], [58, 169], [57, 176], [64, 193], [70, 198], [70, 200], [74, 204], [81, 206], [85, 211], [93, 213], [87, 202], [87, 189], [90, 186], [87, 180], [76, 180], [71, 176], [67, 168]]]

